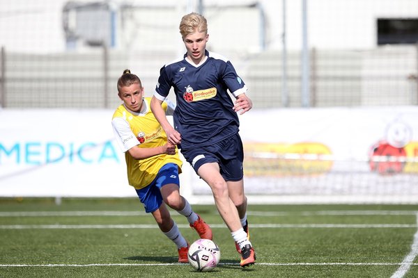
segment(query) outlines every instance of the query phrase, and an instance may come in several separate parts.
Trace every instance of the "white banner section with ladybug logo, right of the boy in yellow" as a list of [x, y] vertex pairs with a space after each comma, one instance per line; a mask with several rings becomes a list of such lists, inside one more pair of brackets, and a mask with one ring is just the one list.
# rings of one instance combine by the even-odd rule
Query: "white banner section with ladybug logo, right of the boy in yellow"
[[253, 110], [240, 122], [253, 202], [418, 203], [415, 106]]

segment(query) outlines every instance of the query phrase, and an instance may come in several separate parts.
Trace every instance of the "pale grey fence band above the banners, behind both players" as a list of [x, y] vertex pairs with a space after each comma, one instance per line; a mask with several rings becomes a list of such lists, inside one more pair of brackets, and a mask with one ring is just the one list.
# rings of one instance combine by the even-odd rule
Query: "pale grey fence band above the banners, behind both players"
[[[417, 46], [311, 49], [310, 53], [311, 107], [418, 104]], [[82, 54], [19, 54], [3, 48], [1, 107], [114, 108], [120, 102], [116, 81], [125, 68], [139, 75], [150, 96], [160, 67], [175, 56], [175, 51], [128, 54], [107, 47]], [[254, 108], [286, 106], [280, 51], [263, 51], [232, 62], [249, 87]], [[287, 106], [300, 107], [300, 54], [289, 52], [287, 63]]]

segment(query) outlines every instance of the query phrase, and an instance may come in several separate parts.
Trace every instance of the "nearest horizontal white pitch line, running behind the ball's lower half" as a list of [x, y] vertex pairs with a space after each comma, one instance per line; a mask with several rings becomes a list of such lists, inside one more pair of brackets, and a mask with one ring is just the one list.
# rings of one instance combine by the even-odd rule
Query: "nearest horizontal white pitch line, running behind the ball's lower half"
[[[31, 267], [88, 267], [88, 266], [166, 266], [187, 265], [185, 263], [47, 263], [47, 264], [0, 264], [0, 268], [31, 268]], [[218, 265], [240, 265], [239, 263], [219, 263]], [[256, 263], [256, 265], [403, 265], [403, 263]], [[418, 263], [410, 263], [418, 265]]]

